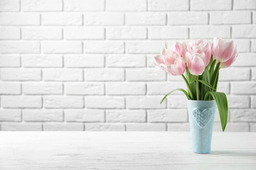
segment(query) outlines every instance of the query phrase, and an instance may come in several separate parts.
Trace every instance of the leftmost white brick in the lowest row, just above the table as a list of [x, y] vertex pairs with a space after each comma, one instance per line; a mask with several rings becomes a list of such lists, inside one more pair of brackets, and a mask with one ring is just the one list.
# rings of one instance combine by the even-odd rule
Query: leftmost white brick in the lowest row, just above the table
[[2, 123], [2, 131], [42, 131], [41, 123]]

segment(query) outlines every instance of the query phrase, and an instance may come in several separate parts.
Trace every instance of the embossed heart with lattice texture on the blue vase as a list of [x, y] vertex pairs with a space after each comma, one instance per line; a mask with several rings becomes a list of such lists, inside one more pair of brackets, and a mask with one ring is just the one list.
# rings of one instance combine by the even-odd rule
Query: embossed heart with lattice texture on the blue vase
[[201, 111], [199, 109], [194, 109], [192, 113], [193, 113], [193, 116], [194, 116], [196, 122], [198, 123], [198, 125], [203, 127], [211, 119], [213, 110], [211, 110], [210, 108], [204, 109], [203, 111]]

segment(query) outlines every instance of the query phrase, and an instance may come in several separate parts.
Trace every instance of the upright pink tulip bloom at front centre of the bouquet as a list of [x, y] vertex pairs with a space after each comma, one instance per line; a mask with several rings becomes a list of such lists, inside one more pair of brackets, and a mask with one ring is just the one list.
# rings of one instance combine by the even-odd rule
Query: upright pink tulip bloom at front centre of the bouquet
[[188, 70], [192, 75], [202, 75], [205, 70], [205, 53], [194, 53], [186, 52], [186, 59], [188, 61]]

